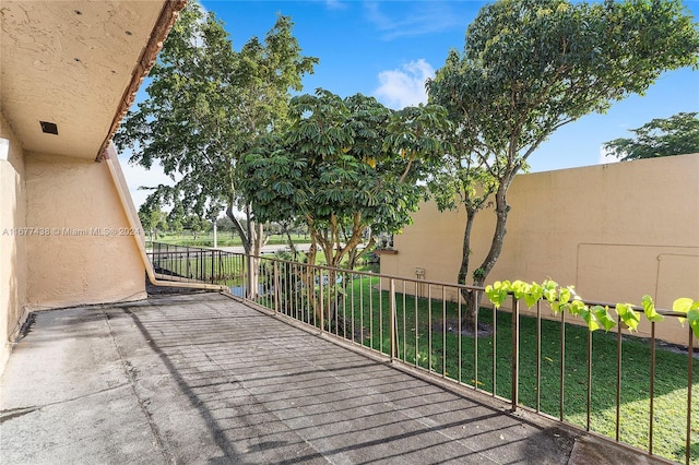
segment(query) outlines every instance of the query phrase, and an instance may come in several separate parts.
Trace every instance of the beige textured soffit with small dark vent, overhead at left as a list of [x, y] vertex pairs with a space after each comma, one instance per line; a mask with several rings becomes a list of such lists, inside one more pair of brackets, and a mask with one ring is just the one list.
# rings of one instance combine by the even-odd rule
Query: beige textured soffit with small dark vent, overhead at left
[[0, 109], [25, 151], [98, 157], [147, 71], [143, 51], [167, 33], [165, 3], [2, 0]]

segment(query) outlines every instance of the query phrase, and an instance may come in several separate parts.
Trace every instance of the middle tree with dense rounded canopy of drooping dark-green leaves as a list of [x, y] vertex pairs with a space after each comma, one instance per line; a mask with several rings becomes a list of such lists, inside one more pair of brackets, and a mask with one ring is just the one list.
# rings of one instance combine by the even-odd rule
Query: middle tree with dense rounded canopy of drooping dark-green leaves
[[241, 164], [258, 219], [304, 219], [335, 266], [367, 228], [394, 233], [411, 222], [424, 196], [416, 181], [442, 153], [442, 108], [394, 111], [360, 94], [343, 99], [319, 90], [294, 97], [289, 115], [288, 130]]

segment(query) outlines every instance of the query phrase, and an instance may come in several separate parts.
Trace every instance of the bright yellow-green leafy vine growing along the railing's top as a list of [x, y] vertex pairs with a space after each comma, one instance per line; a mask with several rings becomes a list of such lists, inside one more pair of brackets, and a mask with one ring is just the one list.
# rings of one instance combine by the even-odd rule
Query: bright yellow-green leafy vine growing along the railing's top
[[[585, 321], [590, 331], [601, 327], [609, 331], [616, 326], [617, 319], [613, 317], [608, 306], [595, 305], [590, 307], [576, 294], [573, 286], [562, 287], [552, 279], [546, 279], [542, 284], [530, 284], [519, 279], [513, 283], [496, 281], [493, 285], [485, 287], [485, 295], [496, 309], [500, 308], [509, 295], [513, 295], [518, 300], [524, 300], [529, 308], [545, 299], [554, 314], [565, 311], [571, 315], [580, 317]], [[638, 308], [643, 309], [643, 314], [648, 321], [660, 322], [665, 319], [655, 310], [655, 303], [649, 295], [642, 297], [640, 307], [633, 303], [618, 302], [614, 306], [614, 309], [618, 319], [624, 322], [629, 331], [637, 331], [641, 322], [641, 312], [636, 310]], [[688, 320], [691, 331], [699, 338], [699, 300], [692, 300], [687, 297], [679, 298], [673, 302], [673, 312], [685, 314], [686, 317], [678, 317], [679, 322], [684, 325], [685, 320]]]

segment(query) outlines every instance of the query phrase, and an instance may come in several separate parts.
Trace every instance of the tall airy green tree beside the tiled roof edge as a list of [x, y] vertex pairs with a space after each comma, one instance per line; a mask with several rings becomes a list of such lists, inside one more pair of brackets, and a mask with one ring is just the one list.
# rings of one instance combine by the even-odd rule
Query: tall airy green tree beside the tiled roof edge
[[158, 160], [176, 180], [158, 186], [152, 202], [206, 217], [225, 205], [251, 255], [259, 255], [264, 234], [238, 190], [238, 160], [257, 139], [284, 124], [291, 91], [300, 91], [301, 76], [318, 61], [300, 55], [292, 27], [288, 16], [279, 16], [264, 40], [253, 37], [236, 52], [214, 14], [189, 2], [151, 70], [149, 97], [115, 138], [120, 148], [131, 148], [131, 162], [150, 168]]

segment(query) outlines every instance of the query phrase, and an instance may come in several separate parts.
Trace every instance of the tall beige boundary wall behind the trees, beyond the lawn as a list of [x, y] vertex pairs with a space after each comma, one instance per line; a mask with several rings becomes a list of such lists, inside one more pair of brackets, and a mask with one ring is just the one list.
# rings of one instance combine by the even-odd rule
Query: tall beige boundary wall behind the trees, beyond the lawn
[[[699, 154], [518, 176], [505, 247], [487, 283], [547, 277], [574, 285], [587, 300], [661, 308], [699, 298]], [[460, 266], [465, 213], [439, 213], [433, 203], [394, 238], [395, 255], [381, 272], [453, 283]], [[471, 272], [487, 253], [495, 213], [481, 212], [472, 237]], [[640, 327], [648, 334], [649, 325]], [[660, 337], [686, 344], [676, 321]]]

